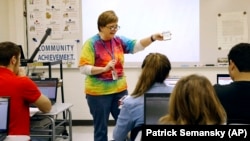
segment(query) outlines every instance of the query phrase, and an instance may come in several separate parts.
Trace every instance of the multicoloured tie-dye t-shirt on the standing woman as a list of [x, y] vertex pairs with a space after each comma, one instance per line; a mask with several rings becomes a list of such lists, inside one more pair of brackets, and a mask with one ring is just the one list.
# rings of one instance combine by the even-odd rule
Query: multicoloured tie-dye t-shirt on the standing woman
[[97, 75], [86, 75], [85, 93], [89, 95], [108, 95], [127, 89], [123, 72], [124, 54], [133, 53], [136, 40], [115, 36], [112, 40], [103, 41], [97, 34], [88, 39], [81, 50], [79, 66], [93, 65], [105, 67], [113, 58], [117, 60], [115, 70], [118, 79], [113, 80], [111, 70]]

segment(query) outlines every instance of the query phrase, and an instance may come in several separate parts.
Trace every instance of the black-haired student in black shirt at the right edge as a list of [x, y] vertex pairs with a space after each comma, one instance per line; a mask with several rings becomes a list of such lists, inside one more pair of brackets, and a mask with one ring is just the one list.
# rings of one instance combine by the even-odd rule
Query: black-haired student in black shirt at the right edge
[[227, 112], [228, 124], [250, 124], [250, 44], [239, 43], [232, 47], [228, 61], [233, 82], [215, 84], [215, 91]]

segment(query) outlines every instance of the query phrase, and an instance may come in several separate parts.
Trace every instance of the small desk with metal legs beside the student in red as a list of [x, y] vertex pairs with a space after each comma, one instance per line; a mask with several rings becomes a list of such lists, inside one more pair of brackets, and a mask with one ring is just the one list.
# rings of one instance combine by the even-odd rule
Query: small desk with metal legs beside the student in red
[[[47, 120], [47, 124], [39, 128], [31, 124], [30, 136], [31, 137], [49, 137], [51, 138], [52, 141], [55, 141], [57, 136], [61, 136], [61, 135], [56, 134], [56, 130], [68, 123], [69, 124], [68, 125], [68, 128], [69, 128], [68, 138], [69, 138], [69, 141], [72, 141], [72, 115], [70, 111], [70, 107], [72, 106], [73, 104], [71, 103], [55, 103], [52, 106], [52, 109], [49, 113], [42, 113], [41, 111], [38, 111], [31, 118], [31, 122], [34, 119], [39, 118], [39, 119]], [[62, 113], [65, 113], [65, 118], [58, 120], [57, 116]], [[44, 132], [47, 132], [49, 134], [45, 134], [45, 135], [42, 134]], [[35, 133], [38, 133], [38, 134], [35, 134]]]

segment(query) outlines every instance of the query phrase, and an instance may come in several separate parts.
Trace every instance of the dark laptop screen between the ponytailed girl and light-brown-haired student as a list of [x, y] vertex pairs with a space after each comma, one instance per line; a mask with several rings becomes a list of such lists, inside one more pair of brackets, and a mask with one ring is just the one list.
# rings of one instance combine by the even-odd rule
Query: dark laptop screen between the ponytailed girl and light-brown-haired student
[[144, 122], [145, 125], [157, 125], [158, 120], [168, 113], [170, 93], [144, 94]]

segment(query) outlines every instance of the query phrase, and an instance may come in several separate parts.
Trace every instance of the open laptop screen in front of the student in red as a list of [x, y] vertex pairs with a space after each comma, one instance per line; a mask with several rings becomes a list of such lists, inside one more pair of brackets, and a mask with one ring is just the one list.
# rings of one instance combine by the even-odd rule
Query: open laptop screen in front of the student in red
[[[58, 78], [32, 78], [42, 94], [47, 96], [52, 105], [56, 103]], [[31, 105], [31, 107], [34, 105]]]

